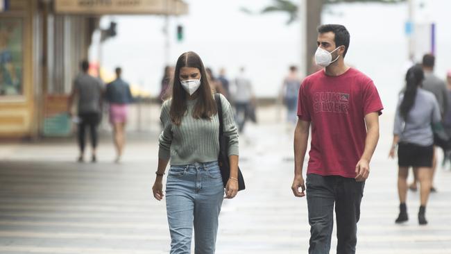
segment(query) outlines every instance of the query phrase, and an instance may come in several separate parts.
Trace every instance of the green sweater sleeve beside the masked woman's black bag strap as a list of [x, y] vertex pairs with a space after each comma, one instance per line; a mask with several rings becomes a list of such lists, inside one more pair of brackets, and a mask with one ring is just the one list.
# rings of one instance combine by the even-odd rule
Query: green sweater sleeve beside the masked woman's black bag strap
[[225, 96], [221, 96], [221, 105], [223, 108], [223, 133], [229, 137], [228, 155], [239, 155], [238, 149], [238, 131], [235, 126], [235, 119], [233, 117], [232, 106]]

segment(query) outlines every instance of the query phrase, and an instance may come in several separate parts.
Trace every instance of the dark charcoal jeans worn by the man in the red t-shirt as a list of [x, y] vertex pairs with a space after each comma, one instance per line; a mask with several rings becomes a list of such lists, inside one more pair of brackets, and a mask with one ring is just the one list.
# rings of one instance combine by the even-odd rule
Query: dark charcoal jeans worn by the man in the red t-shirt
[[307, 207], [309, 210], [309, 254], [329, 254], [334, 204], [337, 217], [337, 254], [353, 254], [357, 245], [357, 222], [364, 182], [341, 176], [307, 175]]

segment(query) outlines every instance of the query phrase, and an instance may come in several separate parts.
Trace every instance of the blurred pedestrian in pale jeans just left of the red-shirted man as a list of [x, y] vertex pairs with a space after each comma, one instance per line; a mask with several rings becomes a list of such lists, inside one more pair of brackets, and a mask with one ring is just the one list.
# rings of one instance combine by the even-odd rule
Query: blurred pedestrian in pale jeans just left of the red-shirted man
[[298, 119], [296, 108], [298, 106], [298, 92], [300, 88], [300, 78], [296, 66], [289, 67], [289, 74], [282, 83], [282, 98], [287, 108], [287, 122], [295, 125]]

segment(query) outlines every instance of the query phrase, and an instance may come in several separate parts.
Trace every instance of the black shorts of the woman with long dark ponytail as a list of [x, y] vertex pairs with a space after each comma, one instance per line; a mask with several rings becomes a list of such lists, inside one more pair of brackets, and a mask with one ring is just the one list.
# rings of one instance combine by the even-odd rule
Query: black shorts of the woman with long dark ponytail
[[400, 142], [398, 146], [399, 167], [432, 167], [434, 145], [420, 146], [418, 144]]

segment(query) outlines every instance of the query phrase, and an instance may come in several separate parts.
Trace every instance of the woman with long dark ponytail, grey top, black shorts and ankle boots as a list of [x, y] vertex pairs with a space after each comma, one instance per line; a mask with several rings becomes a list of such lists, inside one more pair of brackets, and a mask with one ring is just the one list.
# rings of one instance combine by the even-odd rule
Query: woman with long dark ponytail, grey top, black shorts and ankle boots
[[406, 90], [400, 96], [396, 109], [393, 144], [389, 157], [394, 158], [398, 145], [398, 194], [400, 214], [395, 220], [402, 223], [407, 216], [407, 176], [409, 167], [413, 167], [420, 181], [420, 209], [418, 223], [427, 224], [425, 210], [432, 185], [432, 156], [434, 153], [433, 126], [440, 124], [439, 103], [434, 94], [421, 88], [424, 79], [423, 69], [419, 65], [411, 67], [406, 74]]

